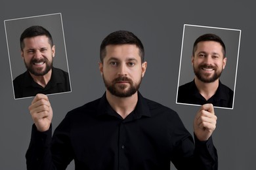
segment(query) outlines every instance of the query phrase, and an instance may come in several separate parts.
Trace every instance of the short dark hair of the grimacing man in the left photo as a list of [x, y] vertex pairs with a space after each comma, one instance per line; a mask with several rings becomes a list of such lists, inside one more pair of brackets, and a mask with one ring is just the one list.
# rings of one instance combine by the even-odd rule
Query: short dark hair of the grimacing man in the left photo
[[20, 48], [21, 48], [21, 50], [23, 50], [23, 48], [25, 47], [24, 39], [31, 38], [31, 37], [36, 37], [36, 36], [39, 36], [39, 35], [45, 35], [46, 37], [48, 37], [49, 44], [51, 45], [51, 47], [53, 47], [53, 38], [52, 38], [51, 33], [42, 26], [33, 25], [33, 26], [28, 27], [27, 29], [25, 29], [23, 31], [22, 35], [20, 35]]

